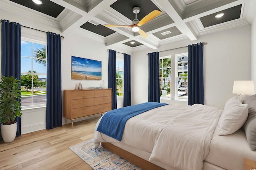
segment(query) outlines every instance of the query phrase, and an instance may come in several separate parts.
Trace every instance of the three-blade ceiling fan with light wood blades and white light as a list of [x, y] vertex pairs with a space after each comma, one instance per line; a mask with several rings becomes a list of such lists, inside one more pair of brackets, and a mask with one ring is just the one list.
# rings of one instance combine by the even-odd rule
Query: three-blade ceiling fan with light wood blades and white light
[[154, 10], [154, 11], [150, 12], [148, 15], [146, 15], [144, 18], [142, 18], [142, 20], [140, 20], [140, 21], [137, 19], [137, 14], [139, 12], [140, 12], [139, 7], [133, 8], [133, 13], [135, 14], [135, 19], [132, 21], [132, 25], [107, 25], [107, 24], [105, 24], [105, 25], [107, 27], [131, 27], [132, 31], [138, 32], [143, 38], [146, 38], [146, 37], [148, 37], [148, 35], [145, 33], [145, 31], [140, 29], [140, 26], [143, 25], [144, 23], [152, 20], [153, 18], [155, 18], [162, 12], [158, 11], [158, 10]]

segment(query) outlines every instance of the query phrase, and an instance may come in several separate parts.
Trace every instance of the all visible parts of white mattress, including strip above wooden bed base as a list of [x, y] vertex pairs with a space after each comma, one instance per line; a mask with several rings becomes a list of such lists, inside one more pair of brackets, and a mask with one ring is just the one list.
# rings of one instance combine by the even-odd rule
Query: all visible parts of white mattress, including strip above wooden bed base
[[[243, 158], [256, 160], [256, 150], [250, 150], [244, 129], [226, 136], [218, 136], [220, 126], [217, 125], [210, 144], [210, 152], [204, 160], [203, 170], [243, 170]], [[123, 143], [112, 143], [140, 158], [148, 160], [151, 153], [134, 149]], [[161, 162], [150, 161], [166, 170], [176, 170]]]

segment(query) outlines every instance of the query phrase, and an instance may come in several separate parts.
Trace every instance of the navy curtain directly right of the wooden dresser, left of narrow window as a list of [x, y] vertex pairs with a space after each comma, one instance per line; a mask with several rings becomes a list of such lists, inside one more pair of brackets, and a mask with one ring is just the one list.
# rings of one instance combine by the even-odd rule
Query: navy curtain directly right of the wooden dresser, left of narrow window
[[112, 109], [116, 109], [116, 51], [108, 51], [108, 88], [112, 88]]

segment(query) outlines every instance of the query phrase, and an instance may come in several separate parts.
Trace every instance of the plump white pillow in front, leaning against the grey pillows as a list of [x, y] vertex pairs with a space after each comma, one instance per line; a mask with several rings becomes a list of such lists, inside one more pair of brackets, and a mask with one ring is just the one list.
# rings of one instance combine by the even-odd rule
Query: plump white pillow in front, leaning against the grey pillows
[[219, 135], [229, 135], [240, 129], [248, 117], [247, 104], [242, 104], [237, 96], [226, 102], [220, 118]]

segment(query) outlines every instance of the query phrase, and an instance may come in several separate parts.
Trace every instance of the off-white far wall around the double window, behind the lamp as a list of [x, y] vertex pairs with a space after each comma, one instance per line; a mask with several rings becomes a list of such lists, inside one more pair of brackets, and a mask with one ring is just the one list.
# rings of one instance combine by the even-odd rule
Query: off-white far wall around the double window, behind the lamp
[[134, 52], [131, 58], [132, 104], [148, 101], [147, 53], [199, 42], [207, 43], [204, 45], [205, 104], [223, 109], [226, 101], [235, 95], [232, 94], [234, 80], [251, 80], [251, 25], [198, 36], [193, 42], [184, 40], [160, 46], [157, 50]]

